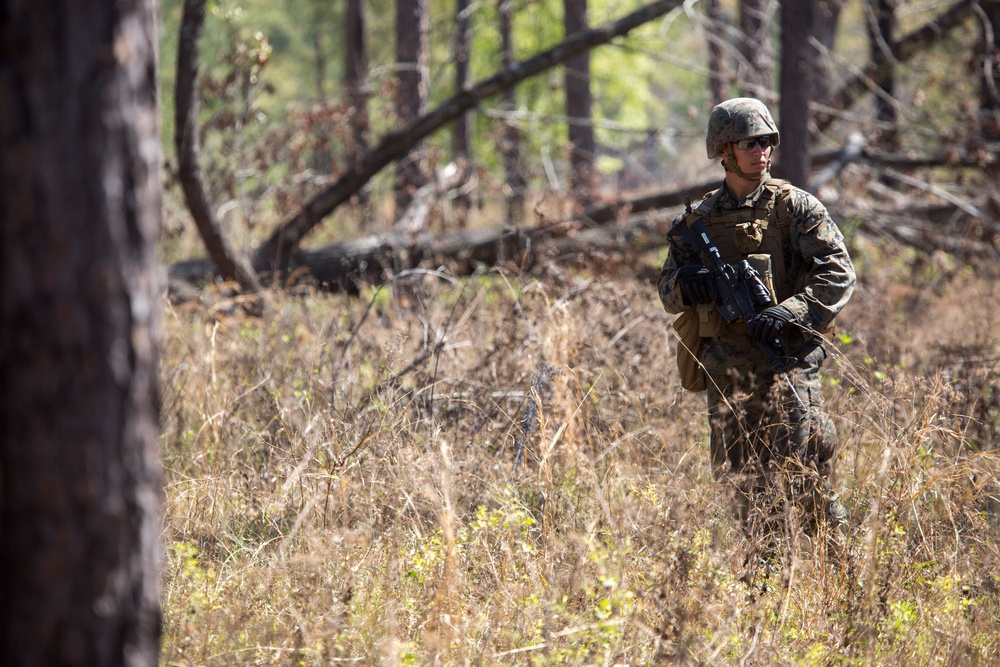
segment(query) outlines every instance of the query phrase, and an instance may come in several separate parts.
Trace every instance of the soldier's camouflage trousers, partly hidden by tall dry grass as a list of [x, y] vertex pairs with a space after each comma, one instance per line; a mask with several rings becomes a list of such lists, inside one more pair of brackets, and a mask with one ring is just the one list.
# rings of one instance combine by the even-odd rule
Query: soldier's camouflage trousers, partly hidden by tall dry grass
[[749, 338], [715, 338], [701, 354], [712, 471], [733, 489], [749, 533], [812, 532], [826, 519], [844, 519], [832, 491], [837, 432], [820, 396], [826, 352], [807, 342], [795, 358], [786, 377], [775, 376]]

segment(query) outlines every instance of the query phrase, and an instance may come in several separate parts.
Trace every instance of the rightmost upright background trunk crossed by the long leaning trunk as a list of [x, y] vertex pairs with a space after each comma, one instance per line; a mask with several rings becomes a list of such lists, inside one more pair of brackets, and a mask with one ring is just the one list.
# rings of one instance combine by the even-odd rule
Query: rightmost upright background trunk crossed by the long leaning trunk
[[[587, 0], [563, 0], [566, 37], [587, 29]], [[566, 117], [569, 119], [569, 185], [577, 206], [587, 208], [594, 198], [594, 124], [590, 94], [590, 52], [566, 61]]]

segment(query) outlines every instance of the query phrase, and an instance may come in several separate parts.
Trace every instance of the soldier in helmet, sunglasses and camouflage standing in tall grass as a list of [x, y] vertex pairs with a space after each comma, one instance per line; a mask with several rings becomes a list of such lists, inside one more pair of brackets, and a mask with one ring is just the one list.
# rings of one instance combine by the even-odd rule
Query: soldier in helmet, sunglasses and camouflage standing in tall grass
[[[731, 99], [712, 110], [706, 147], [709, 159], [721, 158], [725, 182], [674, 221], [657, 281], [663, 307], [681, 314], [675, 327], [686, 342], [678, 357], [685, 387], [707, 392], [713, 473], [736, 490], [744, 529], [772, 536], [788, 525], [774, 520], [789, 509], [807, 529], [846, 519], [832, 493], [837, 434], [822, 408], [819, 369], [822, 334], [855, 285], [844, 236], [826, 208], [770, 176], [780, 139], [759, 100]], [[725, 262], [747, 259], [762, 275], [772, 305], [751, 326], [727, 322], [716, 307], [716, 278], [679, 233], [696, 219]], [[775, 373], [759, 349], [776, 336], [788, 373]]]

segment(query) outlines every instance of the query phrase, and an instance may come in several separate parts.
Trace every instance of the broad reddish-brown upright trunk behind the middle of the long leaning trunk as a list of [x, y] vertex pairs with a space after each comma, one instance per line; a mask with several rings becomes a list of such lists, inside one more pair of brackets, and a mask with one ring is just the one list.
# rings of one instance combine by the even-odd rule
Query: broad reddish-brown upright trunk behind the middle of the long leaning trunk
[[[427, 109], [428, 0], [396, 0], [396, 115], [405, 127]], [[420, 145], [396, 164], [396, 212], [427, 182]]]

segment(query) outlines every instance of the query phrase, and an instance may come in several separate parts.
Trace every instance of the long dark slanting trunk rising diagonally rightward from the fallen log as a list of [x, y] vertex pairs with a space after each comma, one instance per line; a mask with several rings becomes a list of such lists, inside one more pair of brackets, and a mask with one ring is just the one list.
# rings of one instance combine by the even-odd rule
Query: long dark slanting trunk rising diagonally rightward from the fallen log
[[281, 224], [254, 254], [255, 268], [263, 271], [287, 266], [292, 251], [324, 217], [349, 199], [386, 165], [405, 156], [424, 137], [454, 121], [482, 100], [509, 90], [517, 83], [583, 51], [627, 34], [638, 26], [663, 16], [681, 2], [682, 0], [655, 0], [617, 21], [578, 33], [547, 51], [459, 92], [406, 128], [389, 134], [378, 146], [366, 153], [361, 161], [349, 165], [336, 183], [319, 192], [306, 202], [301, 211]]

